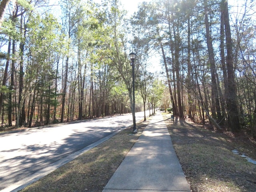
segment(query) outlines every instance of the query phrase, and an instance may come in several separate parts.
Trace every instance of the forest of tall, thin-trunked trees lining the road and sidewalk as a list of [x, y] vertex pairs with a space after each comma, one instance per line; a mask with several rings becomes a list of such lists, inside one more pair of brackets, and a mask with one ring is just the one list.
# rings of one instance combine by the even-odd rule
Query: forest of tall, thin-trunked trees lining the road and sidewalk
[[0, 3], [2, 128], [131, 112], [135, 52], [137, 111], [256, 138], [254, 1], [152, 0], [132, 16], [118, 0], [52, 3]]

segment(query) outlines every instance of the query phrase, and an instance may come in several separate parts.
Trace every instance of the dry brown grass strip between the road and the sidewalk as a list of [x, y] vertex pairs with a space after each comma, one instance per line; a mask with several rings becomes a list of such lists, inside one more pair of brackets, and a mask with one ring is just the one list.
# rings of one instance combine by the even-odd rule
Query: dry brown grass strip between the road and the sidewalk
[[21, 192], [102, 192], [148, 122], [137, 124], [134, 136], [132, 128], [123, 130]]

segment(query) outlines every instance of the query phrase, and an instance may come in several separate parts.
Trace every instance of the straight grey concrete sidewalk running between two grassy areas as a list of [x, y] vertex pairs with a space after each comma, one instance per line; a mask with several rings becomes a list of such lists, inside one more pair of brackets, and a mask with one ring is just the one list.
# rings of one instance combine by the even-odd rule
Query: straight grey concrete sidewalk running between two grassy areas
[[190, 192], [162, 115], [157, 113], [103, 192]]

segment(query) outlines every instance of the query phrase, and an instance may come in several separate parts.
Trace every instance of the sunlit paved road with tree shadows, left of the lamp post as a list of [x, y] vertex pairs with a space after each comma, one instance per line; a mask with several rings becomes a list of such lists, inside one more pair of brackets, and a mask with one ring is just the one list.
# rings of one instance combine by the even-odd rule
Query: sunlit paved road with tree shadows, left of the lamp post
[[0, 135], [0, 190], [131, 124], [128, 114]]

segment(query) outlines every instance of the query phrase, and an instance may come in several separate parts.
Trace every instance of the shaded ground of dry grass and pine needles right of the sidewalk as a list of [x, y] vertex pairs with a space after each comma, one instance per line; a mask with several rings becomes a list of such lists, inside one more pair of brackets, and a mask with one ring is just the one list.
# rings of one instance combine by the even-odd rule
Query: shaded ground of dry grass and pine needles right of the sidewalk
[[163, 116], [192, 192], [256, 192], [256, 165], [232, 152], [256, 160], [255, 142]]

